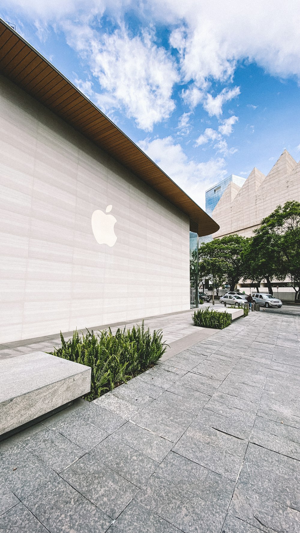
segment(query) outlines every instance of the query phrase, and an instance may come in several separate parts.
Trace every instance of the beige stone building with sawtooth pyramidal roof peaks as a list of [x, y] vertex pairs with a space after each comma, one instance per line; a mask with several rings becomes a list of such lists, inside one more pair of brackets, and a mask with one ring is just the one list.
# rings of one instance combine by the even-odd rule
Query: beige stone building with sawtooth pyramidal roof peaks
[[214, 239], [233, 233], [251, 237], [264, 217], [288, 200], [300, 201], [300, 161], [284, 150], [266, 176], [254, 167], [242, 187], [228, 185], [212, 211], [220, 227]]

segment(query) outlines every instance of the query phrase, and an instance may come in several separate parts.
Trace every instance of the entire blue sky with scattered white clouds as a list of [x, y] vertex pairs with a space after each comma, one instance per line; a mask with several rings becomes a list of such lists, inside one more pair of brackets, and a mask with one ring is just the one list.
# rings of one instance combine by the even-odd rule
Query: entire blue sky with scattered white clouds
[[202, 207], [300, 158], [300, 4], [3, 0], [0, 16]]

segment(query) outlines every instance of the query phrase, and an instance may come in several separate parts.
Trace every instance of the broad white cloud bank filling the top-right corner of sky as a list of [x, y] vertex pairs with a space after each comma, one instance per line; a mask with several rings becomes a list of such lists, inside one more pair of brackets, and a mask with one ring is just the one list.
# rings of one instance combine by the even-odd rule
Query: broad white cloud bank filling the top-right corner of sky
[[151, 5], [156, 19], [176, 25], [171, 43], [179, 50], [185, 80], [194, 79], [198, 87], [212, 78], [231, 80], [243, 59], [272, 75], [300, 76], [299, 2], [273, 0], [270, 7], [269, 0], [152, 0]]

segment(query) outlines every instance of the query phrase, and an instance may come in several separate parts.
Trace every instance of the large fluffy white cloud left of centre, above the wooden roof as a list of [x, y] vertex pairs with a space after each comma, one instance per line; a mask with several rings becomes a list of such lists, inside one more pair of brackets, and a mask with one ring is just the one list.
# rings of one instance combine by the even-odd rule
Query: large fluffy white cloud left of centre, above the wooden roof
[[123, 27], [99, 35], [88, 26], [69, 24], [67, 36], [99, 80], [103, 91], [99, 102], [109, 102], [113, 108], [123, 106], [127, 116], [145, 131], [169, 118], [175, 109], [172, 87], [178, 73], [168, 52], [153, 44], [151, 33], [132, 37]]

